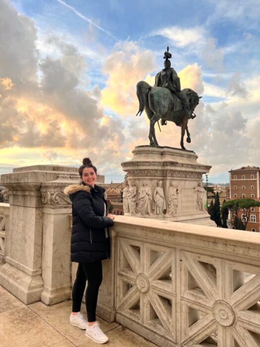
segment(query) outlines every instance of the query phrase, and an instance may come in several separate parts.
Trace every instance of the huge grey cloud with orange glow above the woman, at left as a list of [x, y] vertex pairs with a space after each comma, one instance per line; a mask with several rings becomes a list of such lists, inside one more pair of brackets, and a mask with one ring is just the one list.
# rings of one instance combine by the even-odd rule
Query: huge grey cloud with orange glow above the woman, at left
[[[51, 35], [47, 43], [55, 57], [40, 58], [33, 21], [18, 15], [9, 2], [0, 6], [0, 44], [6, 48], [0, 56], [0, 71], [5, 71], [0, 74], [0, 148], [23, 147], [27, 156], [28, 149], [38, 149], [42, 152], [39, 161], [71, 163], [88, 154], [106, 165], [115, 161], [124, 143], [124, 125], [119, 118], [104, 114], [97, 88], [95, 97], [86, 89], [84, 56], [75, 45]], [[9, 17], [11, 25], [5, 20]], [[16, 64], [17, 52], [22, 53]], [[118, 160], [123, 160], [123, 154]]]

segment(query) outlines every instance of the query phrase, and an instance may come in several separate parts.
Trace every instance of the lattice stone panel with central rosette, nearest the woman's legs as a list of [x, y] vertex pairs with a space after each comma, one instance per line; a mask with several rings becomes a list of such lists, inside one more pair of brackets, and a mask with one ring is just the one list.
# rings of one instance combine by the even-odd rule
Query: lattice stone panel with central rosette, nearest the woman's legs
[[117, 312], [176, 342], [175, 251], [118, 239]]

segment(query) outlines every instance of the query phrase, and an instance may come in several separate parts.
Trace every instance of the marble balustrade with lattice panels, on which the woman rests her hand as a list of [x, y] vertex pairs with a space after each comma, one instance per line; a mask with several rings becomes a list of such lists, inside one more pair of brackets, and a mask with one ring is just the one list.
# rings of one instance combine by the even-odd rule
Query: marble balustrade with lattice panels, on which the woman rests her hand
[[105, 319], [163, 347], [260, 346], [258, 234], [116, 216], [111, 238]]

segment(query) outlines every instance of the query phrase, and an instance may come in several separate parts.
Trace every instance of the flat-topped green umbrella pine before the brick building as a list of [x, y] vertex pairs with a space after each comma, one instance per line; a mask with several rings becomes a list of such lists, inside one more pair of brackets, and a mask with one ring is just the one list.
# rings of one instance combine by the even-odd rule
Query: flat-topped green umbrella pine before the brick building
[[[222, 207], [221, 207], [221, 212], [223, 209], [228, 208], [231, 213], [234, 213], [235, 218], [234, 218], [233, 226], [235, 228], [236, 228], [236, 225], [238, 225], [238, 223], [240, 223], [239, 221], [237, 221], [240, 219], [238, 217], [238, 214], [239, 214], [239, 212], [242, 212], [246, 218], [245, 218], [244, 222], [242, 222], [242, 221], [241, 222], [242, 222], [242, 224], [244, 224], [244, 227], [245, 227], [244, 230], [246, 230], [247, 224], [249, 221], [250, 212], [252, 211], [252, 208], [255, 208], [258, 206], [260, 206], [260, 201], [256, 201], [254, 199], [250, 199], [250, 198], [234, 199], [234, 200], [229, 200], [229, 201], [226, 201], [225, 203], [223, 203]], [[236, 220], [236, 225], [235, 225], [235, 220]], [[242, 229], [240, 229], [240, 230], [242, 230]]]

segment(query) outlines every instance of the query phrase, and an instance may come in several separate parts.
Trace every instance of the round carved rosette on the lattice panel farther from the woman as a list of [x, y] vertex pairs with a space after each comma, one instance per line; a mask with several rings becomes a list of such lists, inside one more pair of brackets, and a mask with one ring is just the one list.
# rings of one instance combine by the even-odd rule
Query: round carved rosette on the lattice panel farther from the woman
[[230, 327], [235, 322], [236, 317], [233, 308], [223, 300], [214, 302], [212, 314], [215, 320], [223, 327]]

